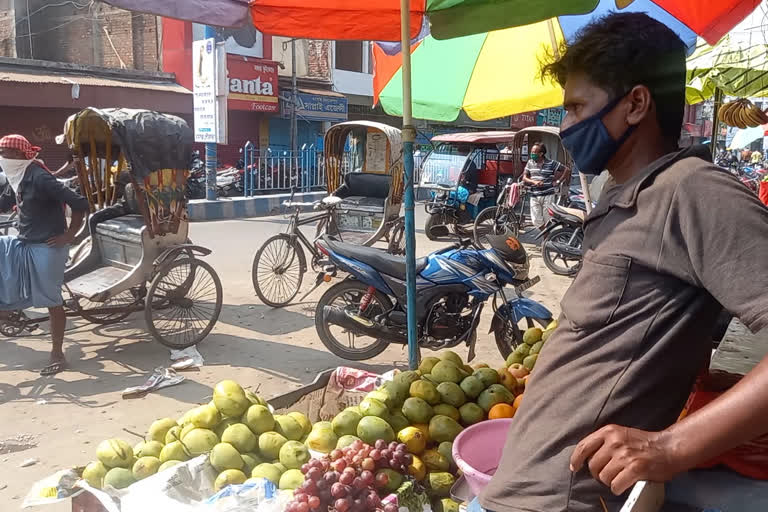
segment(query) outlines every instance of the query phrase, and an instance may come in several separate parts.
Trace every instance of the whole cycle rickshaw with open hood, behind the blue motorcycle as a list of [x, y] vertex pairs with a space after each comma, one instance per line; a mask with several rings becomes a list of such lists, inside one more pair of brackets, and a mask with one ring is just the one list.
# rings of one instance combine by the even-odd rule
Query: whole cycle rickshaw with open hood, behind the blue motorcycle
[[[328, 196], [315, 203], [283, 203], [292, 210], [285, 233], [267, 240], [256, 252], [251, 276], [259, 299], [272, 307], [290, 303], [310, 264], [320, 270], [315, 240], [324, 234], [344, 242], [371, 246], [386, 241], [391, 254], [405, 253], [403, 145], [400, 130], [371, 121], [349, 121], [325, 134], [324, 162]], [[301, 217], [302, 208], [322, 210]], [[300, 226], [317, 223], [315, 237]], [[303, 246], [303, 249], [302, 249]]]

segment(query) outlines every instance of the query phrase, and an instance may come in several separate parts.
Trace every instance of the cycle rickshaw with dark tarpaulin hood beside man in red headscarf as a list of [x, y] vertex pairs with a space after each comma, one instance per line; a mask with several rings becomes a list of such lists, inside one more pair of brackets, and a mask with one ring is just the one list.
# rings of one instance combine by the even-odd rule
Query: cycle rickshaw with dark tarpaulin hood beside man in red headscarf
[[[87, 108], [67, 120], [64, 139], [91, 209], [89, 236], [64, 277], [67, 316], [104, 325], [143, 311], [163, 345], [202, 341], [218, 320], [222, 289], [199, 258], [211, 251], [187, 238], [192, 130], [157, 112]], [[19, 336], [44, 320], [16, 311], [0, 332]]]

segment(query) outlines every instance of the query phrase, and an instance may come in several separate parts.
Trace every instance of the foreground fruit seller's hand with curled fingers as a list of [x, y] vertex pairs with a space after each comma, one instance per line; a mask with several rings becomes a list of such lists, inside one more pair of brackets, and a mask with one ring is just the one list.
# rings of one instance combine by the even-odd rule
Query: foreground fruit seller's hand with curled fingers
[[603, 427], [576, 445], [571, 471], [579, 471], [585, 463], [592, 476], [617, 496], [640, 480], [666, 482], [686, 468], [675, 460], [669, 434], [618, 425]]

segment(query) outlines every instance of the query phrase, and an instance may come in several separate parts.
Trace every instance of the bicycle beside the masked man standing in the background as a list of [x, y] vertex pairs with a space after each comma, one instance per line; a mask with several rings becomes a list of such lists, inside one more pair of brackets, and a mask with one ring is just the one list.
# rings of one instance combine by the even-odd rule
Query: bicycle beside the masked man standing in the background
[[[517, 185], [518, 197], [513, 203], [511, 197], [512, 187]], [[512, 178], [508, 178], [504, 189], [496, 200], [496, 206], [489, 206], [481, 211], [475, 218], [473, 226], [474, 241], [478, 247], [487, 249], [490, 245], [488, 235], [500, 235], [511, 233], [518, 236], [527, 225], [525, 218], [525, 202], [528, 195], [528, 187], [522, 183], [515, 184]]]

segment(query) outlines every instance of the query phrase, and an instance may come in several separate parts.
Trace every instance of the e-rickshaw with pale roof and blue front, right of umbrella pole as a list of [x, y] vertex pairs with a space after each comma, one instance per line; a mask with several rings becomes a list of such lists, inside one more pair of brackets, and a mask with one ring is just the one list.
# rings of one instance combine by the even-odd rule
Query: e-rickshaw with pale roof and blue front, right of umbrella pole
[[500, 186], [514, 176], [508, 147], [513, 131], [451, 133], [432, 138], [435, 148], [421, 167], [420, 186], [432, 189], [424, 231], [430, 240], [471, 234], [474, 220], [496, 204]]

